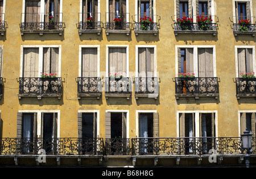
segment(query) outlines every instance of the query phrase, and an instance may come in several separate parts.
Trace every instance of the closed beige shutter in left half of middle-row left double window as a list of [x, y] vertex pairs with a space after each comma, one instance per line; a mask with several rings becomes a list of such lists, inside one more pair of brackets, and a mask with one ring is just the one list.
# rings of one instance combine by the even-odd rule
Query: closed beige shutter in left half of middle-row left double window
[[23, 48], [23, 77], [38, 77], [39, 49]]

